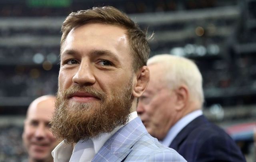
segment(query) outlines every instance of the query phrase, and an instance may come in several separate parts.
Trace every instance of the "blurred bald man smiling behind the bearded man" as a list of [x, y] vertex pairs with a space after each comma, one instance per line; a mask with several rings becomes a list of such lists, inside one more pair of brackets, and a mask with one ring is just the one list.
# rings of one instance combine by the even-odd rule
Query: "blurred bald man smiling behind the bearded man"
[[29, 162], [53, 162], [52, 150], [58, 142], [50, 132], [54, 112], [54, 96], [42, 96], [28, 107], [22, 140], [28, 151]]

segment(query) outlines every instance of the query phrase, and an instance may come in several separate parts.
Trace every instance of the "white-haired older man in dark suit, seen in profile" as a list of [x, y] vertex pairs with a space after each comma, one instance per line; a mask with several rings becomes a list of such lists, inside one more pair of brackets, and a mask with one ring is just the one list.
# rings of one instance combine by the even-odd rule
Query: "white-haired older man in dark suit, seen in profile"
[[188, 162], [244, 162], [235, 142], [202, 113], [202, 76], [192, 61], [169, 54], [148, 60], [150, 83], [137, 112], [148, 132]]

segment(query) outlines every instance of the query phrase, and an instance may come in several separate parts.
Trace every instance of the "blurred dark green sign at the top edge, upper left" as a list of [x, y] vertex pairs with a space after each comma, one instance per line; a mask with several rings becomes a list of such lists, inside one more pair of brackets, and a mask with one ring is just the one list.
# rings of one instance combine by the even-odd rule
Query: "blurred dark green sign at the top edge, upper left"
[[29, 7], [69, 7], [71, 0], [27, 0]]

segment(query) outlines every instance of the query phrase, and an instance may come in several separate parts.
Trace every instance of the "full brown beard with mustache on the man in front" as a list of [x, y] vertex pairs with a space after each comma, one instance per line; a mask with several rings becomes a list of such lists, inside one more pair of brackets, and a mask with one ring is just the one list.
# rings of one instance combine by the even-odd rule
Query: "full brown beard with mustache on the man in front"
[[[76, 92], [87, 92], [100, 99], [100, 106], [94, 103], [70, 103], [69, 96]], [[80, 139], [97, 138], [114, 128], [126, 124], [132, 106], [132, 81], [113, 96], [106, 96], [92, 86], [72, 86], [57, 93], [51, 130], [58, 140], [75, 144]]]

